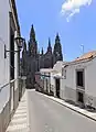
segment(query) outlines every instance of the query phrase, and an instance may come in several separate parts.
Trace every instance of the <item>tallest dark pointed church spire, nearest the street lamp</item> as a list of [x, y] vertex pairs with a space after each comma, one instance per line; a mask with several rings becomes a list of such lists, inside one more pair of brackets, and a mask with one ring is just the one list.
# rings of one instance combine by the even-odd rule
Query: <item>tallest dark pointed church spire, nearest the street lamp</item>
[[31, 32], [30, 32], [29, 54], [32, 57], [36, 57], [38, 55], [38, 43], [35, 40], [35, 31], [34, 31], [33, 24], [32, 24]]

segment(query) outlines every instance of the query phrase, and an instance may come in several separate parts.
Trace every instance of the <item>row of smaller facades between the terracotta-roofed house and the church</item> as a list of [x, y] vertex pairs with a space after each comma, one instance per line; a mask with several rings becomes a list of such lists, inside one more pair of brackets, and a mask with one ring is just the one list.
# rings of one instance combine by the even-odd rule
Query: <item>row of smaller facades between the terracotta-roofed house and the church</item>
[[36, 90], [60, 98], [63, 64], [63, 62], [56, 62], [53, 68], [40, 69], [40, 72], [35, 74]]

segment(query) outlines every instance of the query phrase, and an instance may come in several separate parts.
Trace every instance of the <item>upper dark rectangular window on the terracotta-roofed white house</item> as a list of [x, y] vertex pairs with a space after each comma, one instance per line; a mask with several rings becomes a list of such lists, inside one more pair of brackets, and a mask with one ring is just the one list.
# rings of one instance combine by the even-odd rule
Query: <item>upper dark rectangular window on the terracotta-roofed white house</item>
[[76, 85], [78, 87], [84, 87], [84, 70], [76, 72]]

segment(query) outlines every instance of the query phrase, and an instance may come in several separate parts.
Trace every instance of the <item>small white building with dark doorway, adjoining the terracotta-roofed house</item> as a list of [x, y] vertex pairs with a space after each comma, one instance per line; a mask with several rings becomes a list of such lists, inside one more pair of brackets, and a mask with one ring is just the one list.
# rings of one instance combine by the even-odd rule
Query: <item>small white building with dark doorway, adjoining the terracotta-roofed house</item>
[[44, 91], [55, 97], [60, 97], [63, 64], [63, 62], [57, 62], [53, 68], [43, 68], [40, 70], [43, 76]]

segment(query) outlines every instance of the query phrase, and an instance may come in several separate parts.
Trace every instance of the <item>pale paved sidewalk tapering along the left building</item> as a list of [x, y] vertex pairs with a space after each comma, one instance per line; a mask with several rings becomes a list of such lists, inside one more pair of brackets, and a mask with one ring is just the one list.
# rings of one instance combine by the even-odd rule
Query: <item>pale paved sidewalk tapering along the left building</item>
[[30, 132], [28, 125], [26, 91], [24, 92], [19, 107], [7, 129], [7, 132]]

